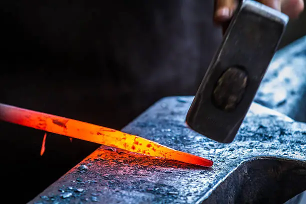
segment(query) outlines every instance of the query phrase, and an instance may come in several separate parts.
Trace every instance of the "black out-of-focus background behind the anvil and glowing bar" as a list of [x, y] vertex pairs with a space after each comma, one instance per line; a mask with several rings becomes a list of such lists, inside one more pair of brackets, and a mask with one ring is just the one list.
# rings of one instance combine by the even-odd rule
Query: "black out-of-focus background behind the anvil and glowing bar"
[[[153, 102], [194, 94], [221, 40], [206, 0], [0, 2], [0, 102], [122, 128]], [[304, 14], [303, 14], [304, 16]], [[292, 21], [280, 46], [304, 35]], [[98, 144], [0, 122], [1, 191], [32, 199]]]

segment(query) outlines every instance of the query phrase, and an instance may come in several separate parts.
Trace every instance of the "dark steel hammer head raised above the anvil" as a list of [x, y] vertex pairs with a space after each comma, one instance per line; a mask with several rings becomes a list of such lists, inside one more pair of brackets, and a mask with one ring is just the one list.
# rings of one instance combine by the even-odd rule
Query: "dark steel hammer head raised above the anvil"
[[189, 127], [219, 142], [234, 139], [287, 21], [256, 1], [240, 3], [188, 110]]

